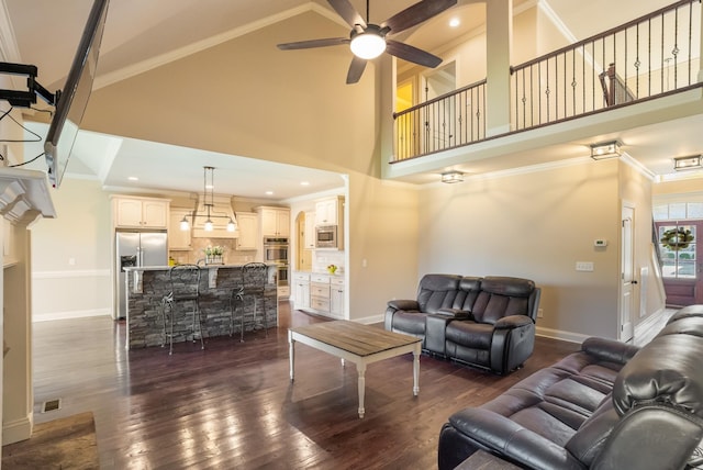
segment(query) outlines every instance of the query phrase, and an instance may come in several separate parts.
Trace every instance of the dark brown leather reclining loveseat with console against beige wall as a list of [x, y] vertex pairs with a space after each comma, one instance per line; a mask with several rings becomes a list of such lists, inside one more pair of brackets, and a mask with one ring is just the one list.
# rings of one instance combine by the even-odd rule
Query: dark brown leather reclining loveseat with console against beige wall
[[433, 356], [507, 373], [532, 356], [539, 295], [528, 279], [425, 275], [416, 300], [388, 302], [384, 327]]

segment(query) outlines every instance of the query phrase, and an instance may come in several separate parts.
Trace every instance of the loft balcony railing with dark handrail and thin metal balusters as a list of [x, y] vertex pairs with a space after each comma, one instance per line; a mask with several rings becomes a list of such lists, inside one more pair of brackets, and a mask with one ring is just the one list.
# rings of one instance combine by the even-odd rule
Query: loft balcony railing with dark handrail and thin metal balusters
[[[512, 132], [701, 87], [701, 0], [511, 67]], [[486, 80], [394, 114], [394, 161], [487, 138]]]

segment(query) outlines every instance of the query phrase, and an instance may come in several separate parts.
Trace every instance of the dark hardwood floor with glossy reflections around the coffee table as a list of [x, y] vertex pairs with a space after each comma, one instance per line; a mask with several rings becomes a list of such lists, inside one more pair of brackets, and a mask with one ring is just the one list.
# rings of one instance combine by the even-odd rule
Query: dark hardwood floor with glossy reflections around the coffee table
[[[507, 377], [423, 356], [419, 396], [412, 355], [380, 361], [359, 419], [354, 365], [298, 345], [289, 380], [288, 326], [321, 321], [282, 302], [268, 337], [179, 344], [172, 356], [126, 351], [124, 323], [108, 317], [35, 323], [35, 423], [91, 411], [102, 469], [432, 469], [449, 414], [578, 349], [537, 338]], [[53, 399], [62, 409], [41, 413]]]

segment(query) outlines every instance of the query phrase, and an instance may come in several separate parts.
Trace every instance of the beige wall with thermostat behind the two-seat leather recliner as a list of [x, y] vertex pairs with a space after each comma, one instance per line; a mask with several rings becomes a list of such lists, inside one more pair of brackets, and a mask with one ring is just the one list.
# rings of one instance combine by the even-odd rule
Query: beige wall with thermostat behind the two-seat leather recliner
[[[420, 201], [420, 272], [533, 279], [543, 288], [542, 334], [616, 337], [617, 161], [470, 178]], [[611, 244], [595, 248], [596, 238]], [[576, 271], [576, 261], [594, 271]]]

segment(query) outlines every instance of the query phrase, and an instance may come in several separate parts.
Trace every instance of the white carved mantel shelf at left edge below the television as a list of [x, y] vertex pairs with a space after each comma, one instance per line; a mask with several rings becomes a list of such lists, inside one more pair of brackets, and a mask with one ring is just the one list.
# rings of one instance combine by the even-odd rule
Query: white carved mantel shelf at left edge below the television
[[0, 168], [0, 214], [12, 222], [56, 217], [46, 174], [21, 168]]

